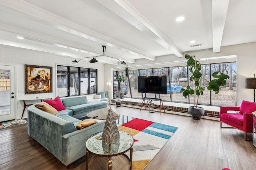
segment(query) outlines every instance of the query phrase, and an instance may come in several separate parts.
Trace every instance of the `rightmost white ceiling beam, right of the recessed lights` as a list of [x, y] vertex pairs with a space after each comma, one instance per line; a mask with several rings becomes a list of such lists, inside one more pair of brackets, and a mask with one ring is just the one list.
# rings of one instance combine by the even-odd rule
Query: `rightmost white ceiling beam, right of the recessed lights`
[[220, 52], [229, 0], [212, 0], [212, 45], [213, 52]]

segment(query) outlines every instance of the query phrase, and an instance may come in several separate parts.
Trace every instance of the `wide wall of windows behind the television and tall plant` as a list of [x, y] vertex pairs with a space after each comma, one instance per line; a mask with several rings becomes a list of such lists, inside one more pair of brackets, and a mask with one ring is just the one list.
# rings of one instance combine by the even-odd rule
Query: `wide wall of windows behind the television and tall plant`
[[[230, 76], [227, 79], [227, 84], [220, 87], [219, 94], [207, 90], [208, 82], [212, 80], [211, 74], [220, 71]], [[236, 63], [217, 63], [217, 64], [202, 64], [201, 69], [202, 77], [200, 86], [204, 87], [204, 94], [199, 97], [198, 104], [212, 105], [212, 106], [235, 106], [236, 105]], [[116, 81], [116, 76], [124, 74], [122, 71], [114, 71], [113, 83], [113, 98], [118, 98], [120, 85]], [[138, 93], [138, 76], [167, 76], [167, 94], [141, 94]], [[151, 97], [162, 98], [167, 102], [180, 102], [180, 103], [194, 103], [194, 95], [184, 98], [180, 93], [181, 88], [186, 88], [190, 85], [194, 88], [193, 84], [189, 82], [190, 72], [186, 66], [167, 67], [167, 68], [151, 68], [140, 70], [129, 70], [129, 76], [122, 84], [122, 89], [125, 87], [128, 90], [124, 94], [124, 98], [139, 98]]]

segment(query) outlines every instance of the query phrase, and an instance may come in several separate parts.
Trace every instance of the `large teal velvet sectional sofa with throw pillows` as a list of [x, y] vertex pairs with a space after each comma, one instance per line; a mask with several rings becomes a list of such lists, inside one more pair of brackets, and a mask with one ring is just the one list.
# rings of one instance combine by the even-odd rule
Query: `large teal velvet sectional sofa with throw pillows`
[[86, 140], [103, 131], [105, 125], [105, 121], [97, 120], [96, 124], [76, 130], [76, 125], [81, 122], [76, 117], [107, 106], [106, 102], [85, 104], [86, 101], [86, 97], [62, 99], [66, 109], [55, 115], [38, 109], [35, 104], [28, 107], [28, 135], [68, 167], [86, 154]]

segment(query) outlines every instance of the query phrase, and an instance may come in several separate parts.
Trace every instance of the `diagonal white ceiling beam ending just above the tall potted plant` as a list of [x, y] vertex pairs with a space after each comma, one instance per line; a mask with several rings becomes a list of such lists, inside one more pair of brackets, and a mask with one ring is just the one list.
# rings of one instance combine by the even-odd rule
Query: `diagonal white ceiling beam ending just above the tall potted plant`
[[[98, 0], [98, 1], [100, 2], [101, 0]], [[157, 37], [157, 38], [154, 38], [154, 40], [157, 43], [159, 43], [160, 45], [162, 45], [163, 47], [171, 51], [174, 55], [178, 57], [183, 57], [180, 49], [178, 49], [178, 47], [176, 47], [176, 45], [170, 39], [168, 39], [149, 20], [147, 20], [146, 17], [144, 17], [134, 6], [132, 6], [132, 4], [128, 2], [128, 0], [114, 0], [114, 1], [117, 4], [119, 4], [124, 10], [126, 10], [129, 14], [131, 14], [136, 20], [140, 21], [140, 23], [142, 23], [147, 29], [149, 29], [152, 33], [154, 33], [154, 35]], [[132, 24], [131, 22], [132, 20], [130, 20], [129, 18], [123, 18], [123, 19]], [[134, 26], [136, 27], [136, 25]], [[142, 31], [141, 29], [139, 30]], [[145, 31], [145, 33], [147, 32]], [[152, 36], [150, 35], [150, 33], [148, 33], [148, 35]]]

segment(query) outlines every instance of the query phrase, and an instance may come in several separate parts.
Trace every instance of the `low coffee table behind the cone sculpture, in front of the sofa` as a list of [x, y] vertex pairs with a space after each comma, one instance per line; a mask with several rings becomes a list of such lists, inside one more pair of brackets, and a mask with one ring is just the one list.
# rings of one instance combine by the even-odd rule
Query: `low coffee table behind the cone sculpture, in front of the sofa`
[[[118, 114], [112, 110], [115, 119], [118, 119]], [[108, 108], [97, 109], [86, 114], [89, 118], [106, 120], [108, 116]]]

